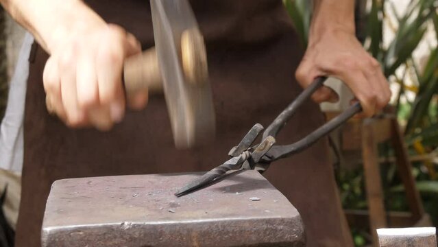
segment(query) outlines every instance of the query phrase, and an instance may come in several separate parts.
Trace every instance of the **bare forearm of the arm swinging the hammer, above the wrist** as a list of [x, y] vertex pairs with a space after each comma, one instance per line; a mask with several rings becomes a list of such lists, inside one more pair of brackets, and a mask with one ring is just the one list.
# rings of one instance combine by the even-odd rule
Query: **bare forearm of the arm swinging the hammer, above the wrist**
[[0, 0], [0, 3], [49, 54], [62, 40], [104, 24], [80, 0]]

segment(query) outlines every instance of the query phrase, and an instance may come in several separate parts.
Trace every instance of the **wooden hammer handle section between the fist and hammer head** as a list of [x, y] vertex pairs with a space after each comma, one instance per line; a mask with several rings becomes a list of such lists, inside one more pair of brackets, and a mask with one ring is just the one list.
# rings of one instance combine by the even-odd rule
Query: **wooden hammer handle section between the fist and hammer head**
[[162, 78], [155, 47], [125, 60], [123, 80], [128, 97], [145, 89], [149, 93], [162, 92]]

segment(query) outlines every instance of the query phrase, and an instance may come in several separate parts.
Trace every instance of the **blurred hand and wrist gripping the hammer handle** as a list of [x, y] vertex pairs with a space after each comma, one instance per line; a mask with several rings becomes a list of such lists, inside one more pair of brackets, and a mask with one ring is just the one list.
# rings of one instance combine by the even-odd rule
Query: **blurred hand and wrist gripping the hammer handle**
[[[62, 12], [64, 3], [56, 4], [53, 8]], [[59, 23], [54, 23], [52, 30], [40, 27], [37, 33], [50, 55], [43, 73], [47, 109], [67, 126], [110, 130], [123, 119], [125, 104], [132, 108], [147, 104], [147, 91], [125, 103], [121, 78], [125, 58], [141, 52], [141, 45], [82, 1], [69, 0], [69, 4], [74, 14], [53, 18]]]

